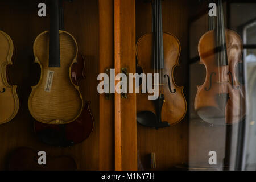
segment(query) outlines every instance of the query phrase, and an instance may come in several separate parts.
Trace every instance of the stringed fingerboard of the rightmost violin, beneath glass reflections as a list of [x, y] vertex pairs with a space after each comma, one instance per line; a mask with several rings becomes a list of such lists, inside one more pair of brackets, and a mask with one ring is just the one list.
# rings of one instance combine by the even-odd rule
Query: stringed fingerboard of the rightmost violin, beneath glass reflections
[[226, 53], [226, 34], [225, 34], [225, 23], [223, 13], [222, 0], [217, 0], [217, 30], [216, 30], [216, 41], [218, 48], [218, 60], [221, 66], [228, 65], [228, 56]]

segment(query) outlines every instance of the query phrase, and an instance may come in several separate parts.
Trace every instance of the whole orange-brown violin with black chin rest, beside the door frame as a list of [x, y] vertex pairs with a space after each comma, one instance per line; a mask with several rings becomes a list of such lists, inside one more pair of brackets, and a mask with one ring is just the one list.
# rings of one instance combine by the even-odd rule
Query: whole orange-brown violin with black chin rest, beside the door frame
[[[152, 2], [152, 32], [139, 38], [136, 46], [137, 69], [158, 73], [159, 97], [148, 100], [148, 94], [137, 94], [137, 122], [146, 127], [163, 128], [180, 122], [187, 111], [183, 87], [174, 81], [179, 65], [180, 42], [162, 28], [162, 2]], [[152, 79], [153, 80], [153, 79]]]

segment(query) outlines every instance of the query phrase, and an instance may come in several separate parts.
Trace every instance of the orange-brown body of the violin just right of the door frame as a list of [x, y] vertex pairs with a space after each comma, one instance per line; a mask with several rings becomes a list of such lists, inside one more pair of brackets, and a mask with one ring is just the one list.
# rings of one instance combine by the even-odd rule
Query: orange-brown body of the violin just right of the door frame
[[[153, 33], [147, 33], [137, 42], [138, 66], [142, 67], [144, 73], [154, 74], [156, 72], [152, 67], [153, 38]], [[180, 56], [180, 43], [174, 35], [163, 33], [163, 52], [164, 69], [162, 74], [159, 74], [159, 79], [163, 80], [163, 85], [159, 85], [159, 92], [162, 89], [164, 103], [159, 115], [162, 116], [162, 121], [168, 121], [170, 125], [174, 125], [184, 118], [187, 111], [183, 87], [177, 86], [173, 77], [173, 71], [179, 65]], [[144, 110], [152, 111], [155, 114], [158, 112], [155, 102], [148, 100], [148, 94], [140, 92], [137, 94], [137, 112]]]

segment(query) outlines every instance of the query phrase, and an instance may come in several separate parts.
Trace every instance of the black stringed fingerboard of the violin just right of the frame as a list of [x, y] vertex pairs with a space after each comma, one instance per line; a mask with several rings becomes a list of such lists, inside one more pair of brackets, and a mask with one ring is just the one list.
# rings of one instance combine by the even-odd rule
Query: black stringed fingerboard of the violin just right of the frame
[[162, 0], [152, 3], [152, 32], [153, 38], [153, 63], [154, 69], [164, 68], [163, 58], [163, 27], [162, 27]]

